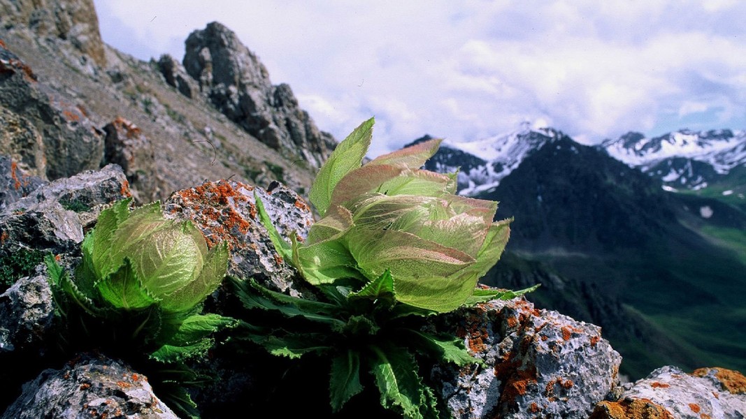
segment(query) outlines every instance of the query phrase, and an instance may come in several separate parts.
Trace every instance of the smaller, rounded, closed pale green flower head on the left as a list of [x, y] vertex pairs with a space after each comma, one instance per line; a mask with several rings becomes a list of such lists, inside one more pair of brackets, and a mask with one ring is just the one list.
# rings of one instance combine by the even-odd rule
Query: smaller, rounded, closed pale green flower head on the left
[[225, 277], [228, 248], [208, 251], [194, 224], [163, 218], [158, 203], [132, 212], [128, 204], [101, 212], [84, 240], [78, 288], [96, 289], [116, 309], [191, 310]]

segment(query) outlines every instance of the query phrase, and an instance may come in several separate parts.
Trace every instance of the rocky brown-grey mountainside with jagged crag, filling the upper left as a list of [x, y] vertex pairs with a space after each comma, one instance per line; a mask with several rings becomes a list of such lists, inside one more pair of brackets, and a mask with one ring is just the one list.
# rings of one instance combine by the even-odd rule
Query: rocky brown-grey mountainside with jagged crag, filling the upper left
[[92, 0], [0, 0], [0, 154], [42, 180], [117, 163], [142, 203], [218, 178], [307, 190], [333, 137], [230, 29], [185, 43], [143, 62], [101, 41]]

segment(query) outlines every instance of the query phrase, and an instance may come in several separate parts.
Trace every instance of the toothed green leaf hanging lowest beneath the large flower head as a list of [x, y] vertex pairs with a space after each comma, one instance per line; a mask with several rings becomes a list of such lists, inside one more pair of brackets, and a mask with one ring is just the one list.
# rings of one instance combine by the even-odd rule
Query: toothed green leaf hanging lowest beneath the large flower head
[[424, 402], [422, 383], [417, 374], [414, 356], [407, 350], [387, 346], [372, 346], [371, 372], [375, 377], [380, 404], [401, 413], [404, 418], [423, 418], [420, 406]]

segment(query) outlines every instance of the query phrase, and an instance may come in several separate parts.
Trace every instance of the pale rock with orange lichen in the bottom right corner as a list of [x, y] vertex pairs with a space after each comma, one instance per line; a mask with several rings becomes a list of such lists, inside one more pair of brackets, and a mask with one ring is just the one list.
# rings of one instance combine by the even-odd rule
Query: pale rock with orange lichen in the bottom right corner
[[598, 403], [591, 418], [746, 418], [746, 377], [725, 368], [692, 374], [658, 368], [630, 385], [620, 400]]

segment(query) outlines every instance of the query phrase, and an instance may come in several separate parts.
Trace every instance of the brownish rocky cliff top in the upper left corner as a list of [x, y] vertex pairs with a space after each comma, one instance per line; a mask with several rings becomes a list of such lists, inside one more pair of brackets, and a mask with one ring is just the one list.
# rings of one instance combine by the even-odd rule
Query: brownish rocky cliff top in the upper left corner
[[106, 65], [93, 0], [0, 0], [0, 25], [69, 41], [98, 66]]

